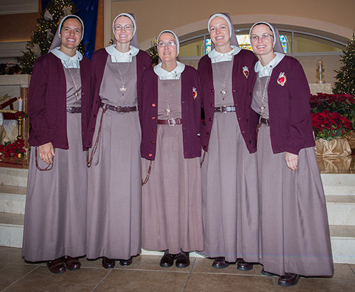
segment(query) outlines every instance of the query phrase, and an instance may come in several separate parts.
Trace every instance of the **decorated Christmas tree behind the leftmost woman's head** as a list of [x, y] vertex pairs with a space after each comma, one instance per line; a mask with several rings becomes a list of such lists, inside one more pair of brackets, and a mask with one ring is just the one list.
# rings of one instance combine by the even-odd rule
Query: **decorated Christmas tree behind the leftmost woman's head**
[[[18, 58], [23, 67], [23, 74], [31, 74], [35, 59], [48, 53], [50, 44], [57, 32], [58, 25], [64, 16], [75, 13], [75, 4], [70, 0], [51, 0], [47, 9], [40, 13], [37, 26], [33, 31], [31, 40], [26, 45], [26, 52]], [[84, 47], [80, 44], [78, 50], [84, 53]]]

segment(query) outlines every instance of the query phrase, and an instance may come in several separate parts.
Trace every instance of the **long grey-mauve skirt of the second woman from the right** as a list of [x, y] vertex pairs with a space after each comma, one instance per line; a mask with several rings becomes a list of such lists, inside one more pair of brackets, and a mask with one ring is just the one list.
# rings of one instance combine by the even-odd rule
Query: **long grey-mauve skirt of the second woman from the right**
[[236, 114], [215, 113], [202, 164], [205, 256], [258, 261], [256, 153], [250, 154]]

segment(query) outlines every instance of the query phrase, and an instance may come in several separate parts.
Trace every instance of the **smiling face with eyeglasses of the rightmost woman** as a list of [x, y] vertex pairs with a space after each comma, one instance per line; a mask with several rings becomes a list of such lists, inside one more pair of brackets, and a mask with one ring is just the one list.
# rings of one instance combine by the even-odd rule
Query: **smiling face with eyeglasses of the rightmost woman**
[[[263, 37], [264, 36], [264, 37]], [[267, 36], [267, 37], [266, 37]], [[251, 47], [258, 57], [270, 57], [273, 53], [273, 31], [266, 24], [258, 24], [251, 30]], [[258, 37], [253, 39], [253, 37]]]

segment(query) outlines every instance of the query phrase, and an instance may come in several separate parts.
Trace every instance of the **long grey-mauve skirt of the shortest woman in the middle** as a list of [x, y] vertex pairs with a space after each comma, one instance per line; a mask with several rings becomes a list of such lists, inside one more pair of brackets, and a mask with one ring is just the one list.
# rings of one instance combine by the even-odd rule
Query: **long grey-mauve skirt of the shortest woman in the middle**
[[[143, 185], [144, 249], [203, 250], [200, 157], [184, 158], [181, 127], [158, 125], [155, 161]], [[142, 161], [146, 178], [150, 161]]]

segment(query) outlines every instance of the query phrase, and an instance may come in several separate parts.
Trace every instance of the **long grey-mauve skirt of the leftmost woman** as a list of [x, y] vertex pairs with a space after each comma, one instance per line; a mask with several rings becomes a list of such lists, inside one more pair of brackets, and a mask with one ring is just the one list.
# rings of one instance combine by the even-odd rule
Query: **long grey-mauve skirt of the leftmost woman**
[[[82, 151], [81, 114], [67, 114], [69, 149], [55, 149], [53, 169], [38, 171], [31, 147], [22, 256], [51, 261], [86, 254], [87, 153]], [[40, 168], [48, 166], [38, 155]]]

